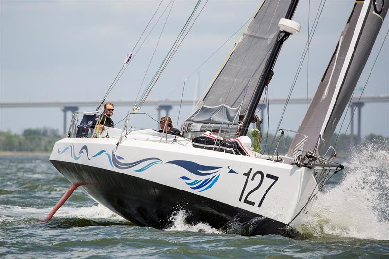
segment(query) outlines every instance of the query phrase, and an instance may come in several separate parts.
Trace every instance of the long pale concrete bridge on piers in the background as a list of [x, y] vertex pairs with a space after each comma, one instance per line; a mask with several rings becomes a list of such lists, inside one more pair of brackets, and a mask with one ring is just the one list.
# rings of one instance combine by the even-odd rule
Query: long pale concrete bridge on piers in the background
[[[286, 98], [272, 98], [269, 99], [270, 104], [285, 104], [287, 101]], [[306, 104], [311, 103], [312, 99], [306, 98], [290, 98], [289, 104]], [[129, 109], [132, 108], [132, 105], [135, 104], [134, 100], [110, 100], [115, 106], [128, 106]], [[363, 96], [353, 97], [351, 99], [350, 106], [351, 108], [357, 108], [357, 136], [358, 139], [361, 138], [361, 109], [365, 103], [380, 103], [380, 102], [389, 102], [389, 95], [378, 95], [378, 96]], [[184, 105], [184, 106], [192, 106], [196, 104], [196, 100], [147, 100], [143, 105], [145, 106], [155, 106], [158, 110], [158, 118], [159, 121], [161, 111], [165, 111], [166, 115], [169, 114], [169, 111], [173, 108], [173, 106]], [[41, 107], [58, 107], [64, 112], [64, 134], [66, 133], [66, 114], [68, 111], [75, 112], [78, 111], [79, 107], [97, 107], [100, 104], [100, 101], [49, 101], [49, 102], [0, 102], [0, 108], [41, 108]], [[264, 110], [266, 105], [263, 106], [261, 110], [261, 117], [264, 117]], [[353, 118], [352, 118], [353, 119]], [[354, 120], [351, 120], [351, 137], [354, 137]]]

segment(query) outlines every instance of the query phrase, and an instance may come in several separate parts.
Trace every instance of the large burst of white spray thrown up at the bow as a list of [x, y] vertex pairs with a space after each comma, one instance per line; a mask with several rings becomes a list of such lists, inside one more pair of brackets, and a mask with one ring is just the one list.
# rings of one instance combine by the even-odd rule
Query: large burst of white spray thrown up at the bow
[[388, 149], [384, 142], [352, 150], [342, 181], [319, 195], [294, 227], [315, 236], [389, 240]]

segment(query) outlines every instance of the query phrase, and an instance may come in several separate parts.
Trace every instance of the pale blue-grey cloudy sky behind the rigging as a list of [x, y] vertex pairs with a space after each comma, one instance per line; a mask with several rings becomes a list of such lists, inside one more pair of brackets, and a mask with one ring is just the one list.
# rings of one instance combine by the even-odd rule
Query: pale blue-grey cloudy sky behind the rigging
[[[169, 2], [163, 1], [160, 10]], [[201, 8], [205, 2], [203, 0]], [[195, 99], [201, 95], [238, 39], [239, 28], [253, 15], [259, 2], [209, 0], [149, 99], [179, 100], [183, 90], [181, 83], [185, 79], [183, 98]], [[0, 102], [96, 101], [97, 106], [159, 3], [159, 0], [0, 0]], [[134, 56], [107, 101], [134, 100], [138, 91], [142, 93], [195, 4], [196, 1], [192, 0], [174, 1], [165, 27], [167, 12]], [[301, 32], [291, 35], [283, 44], [270, 84], [270, 98], [287, 96], [308, 37], [308, 23], [312, 28], [319, 4], [319, 0], [300, 1], [293, 20], [301, 24]], [[353, 0], [325, 2], [309, 48], [308, 61], [304, 61], [292, 97], [314, 95], [353, 4]], [[160, 14], [158, 12], [156, 17]], [[154, 21], [151, 24], [154, 25]], [[360, 76], [355, 96], [361, 94], [365, 85], [363, 96], [389, 95], [389, 39], [384, 42], [388, 30], [389, 18], [386, 17]], [[239, 33], [234, 34], [237, 31]], [[219, 51], [196, 71], [220, 46]], [[122, 120], [132, 105], [115, 107], [113, 121]], [[82, 111], [94, 109], [80, 107]], [[179, 128], [191, 109], [184, 106], [179, 110], [175, 106], [170, 111], [176, 127]], [[276, 130], [282, 109], [283, 105], [269, 107], [270, 119], [264, 123], [269, 131]], [[290, 105], [281, 127], [297, 130], [306, 109], [307, 104]], [[145, 106], [141, 111], [159, 119], [155, 107]], [[349, 120], [350, 115], [346, 115], [341, 132], [346, 130]], [[143, 115], [134, 117], [130, 124], [137, 128], [157, 126], [155, 121]], [[119, 123], [118, 127], [122, 125]], [[40, 127], [57, 128], [62, 133], [63, 113], [60, 108], [0, 109], [1, 131], [21, 133], [25, 128]], [[361, 131], [362, 136], [374, 133], [389, 137], [389, 103], [365, 104]]]

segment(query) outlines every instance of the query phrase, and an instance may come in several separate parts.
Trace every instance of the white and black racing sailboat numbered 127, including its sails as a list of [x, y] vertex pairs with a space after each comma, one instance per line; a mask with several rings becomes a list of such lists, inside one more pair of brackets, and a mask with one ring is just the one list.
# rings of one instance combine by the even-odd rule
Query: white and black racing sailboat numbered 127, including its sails
[[[163, 229], [186, 212], [190, 224], [229, 233], [292, 236], [293, 222], [313, 202], [334, 162], [328, 140], [349, 101], [389, 1], [356, 1], [315, 97], [284, 156], [263, 155], [246, 136], [283, 43], [298, 33], [297, 0], [263, 0], [228, 58], [186, 119], [194, 139], [106, 128], [88, 136], [90, 118], [75, 113], [68, 137], [50, 161], [71, 183], [47, 219], [77, 187], [140, 226]], [[129, 56], [131, 58], [131, 56]], [[139, 110], [134, 109], [133, 113]], [[90, 117], [90, 118], [89, 118]], [[225, 138], [226, 136], [232, 138]], [[246, 138], [245, 138], [246, 137]], [[324, 157], [327, 154], [327, 157]]]

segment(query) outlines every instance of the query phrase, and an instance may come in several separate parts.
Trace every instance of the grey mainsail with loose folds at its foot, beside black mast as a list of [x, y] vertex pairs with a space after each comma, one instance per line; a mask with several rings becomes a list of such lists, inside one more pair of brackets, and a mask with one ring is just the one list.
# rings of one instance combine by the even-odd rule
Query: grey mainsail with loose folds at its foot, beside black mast
[[257, 87], [269, 53], [277, 42], [278, 22], [292, 0], [263, 0], [195, 112], [182, 124], [186, 132], [235, 133]]

